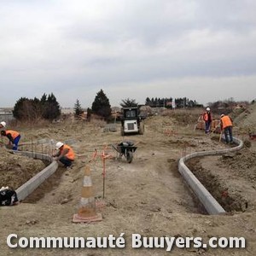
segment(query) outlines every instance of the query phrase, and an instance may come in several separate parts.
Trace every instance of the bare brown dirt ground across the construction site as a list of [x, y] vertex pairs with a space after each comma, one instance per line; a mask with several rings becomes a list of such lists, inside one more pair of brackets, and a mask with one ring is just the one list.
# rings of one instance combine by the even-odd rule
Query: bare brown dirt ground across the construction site
[[[256, 113], [256, 112], [255, 112]], [[254, 115], [255, 116], [255, 115]], [[100, 121], [68, 119], [44, 126], [17, 126], [20, 143], [41, 139], [73, 141], [76, 152], [73, 169], [59, 167], [55, 174], [32, 195], [15, 207], [0, 207], [0, 255], [256, 255], [256, 141], [240, 151], [223, 156], [189, 161], [189, 167], [221, 201], [227, 214], [207, 215], [177, 170], [177, 162], [195, 151], [227, 148], [218, 134], [194, 131], [198, 113], [186, 110], [145, 119], [143, 135], [121, 137], [117, 131], [103, 132]], [[254, 123], [256, 120], [254, 120]], [[242, 121], [240, 123], [243, 125]], [[238, 124], [239, 125], [239, 124]], [[236, 126], [236, 137], [247, 140]], [[129, 140], [137, 143], [131, 164], [117, 160], [117, 152], [108, 146], [104, 198], [101, 154], [108, 145]], [[36, 150], [36, 148], [32, 148]], [[92, 155], [98, 152], [96, 160]], [[40, 146], [39, 149], [41, 150]], [[42, 152], [44, 148], [42, 146]], [[9, 154], [1, 148], [0, 186], [14, 187], [44, 168], [45, 163], [25, 156]], [[34, 168], [32, 166], [34, 165]], [[73, 224], [79, 210], [84, 167], [90, 165], [97, 212], [102, 222]], [[105, 203], [105, 206], [103, 204]], [[124, 235], [123, 235], [124, 233]], [[125, 248], [9, 248], [10, 234], [19, 237], [108, 237], [123, 235]], [[235, 248], [132, 248], [132, 234], [146, 237], [245, 237], [247, 247]], [[17, 242], [14, 239], [13, 242]]]

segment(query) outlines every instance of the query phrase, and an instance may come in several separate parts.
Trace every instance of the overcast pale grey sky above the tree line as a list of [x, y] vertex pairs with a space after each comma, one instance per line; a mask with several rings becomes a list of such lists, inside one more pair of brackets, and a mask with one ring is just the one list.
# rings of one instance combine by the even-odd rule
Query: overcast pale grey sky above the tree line
[[255, 0], [0, 0], [0, 107], [53, 93], [256, 98]]

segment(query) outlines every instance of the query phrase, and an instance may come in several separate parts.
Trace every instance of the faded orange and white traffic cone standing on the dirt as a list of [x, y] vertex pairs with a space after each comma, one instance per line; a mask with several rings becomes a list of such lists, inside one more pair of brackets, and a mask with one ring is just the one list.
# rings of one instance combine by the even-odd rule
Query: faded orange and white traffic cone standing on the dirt
[[102, 214], [96, 213], [96, 201], [90, 179], [90, 166], [85, 166], [79, 213], [73, 215], [73, 222], [86, 223], [101, 221]]

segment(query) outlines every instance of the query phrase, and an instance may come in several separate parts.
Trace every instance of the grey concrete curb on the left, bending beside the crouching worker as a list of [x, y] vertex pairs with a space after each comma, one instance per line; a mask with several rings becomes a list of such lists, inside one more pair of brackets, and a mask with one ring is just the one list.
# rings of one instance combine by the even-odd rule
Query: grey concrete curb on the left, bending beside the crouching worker
[[[39, 154], [35, 152], [28, 152], [28, 151], [22, 151], [17, 152], [14, 151], [15, 154], [24, 154], [28, 157], [40, 159], [40, 160], [47, 160], [51, 162], [51, 158], [49, 154]], [[44, 183], [44, 180], [46, 180], [49, 176], [51, 176], [55, 171], [58, 169], [58, 163], [56, 161], [53, 161], [49, 166], [44, 168], [43, 171], [38, 172], [37, 175], [32, 177], [30, 180], [28, 180], [26, 183], [20, 186], [20, 188], [16, 189], [16, 193], [18, 196], [19, 201], [22, 201], [26, 198], [26, 196], [30, 195], [35, 189], [38, 188], [38, 186], [42, 183]]]

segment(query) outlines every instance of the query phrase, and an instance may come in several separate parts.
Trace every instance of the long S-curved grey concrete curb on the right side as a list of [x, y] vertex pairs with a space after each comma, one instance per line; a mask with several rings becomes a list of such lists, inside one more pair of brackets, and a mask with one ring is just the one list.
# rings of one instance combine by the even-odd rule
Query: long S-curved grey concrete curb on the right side
[[185, 161], [198, 156], [225, 154], [231, 151], [240, 150], [243, 147], [243, 142], [234, 137], [234, 143], [238, 146], [234, 148], [225, 148], [212, 151], [201, 151], [192, 154], [187, 154], [181, 158], [178, 162], [178, 171], [182, 174], [186, 183], [189, 184], [195, 195], [201, 201], [202, 205], [206, 208], [209, 214], [223, 214], [225, 213], [224, 208], [218, 204], [218, 201], [208, 192], [208, 190], [202, 185], [202, 183], [195, 177], [195, 175], [189, 170], [188, 166], [185, 165]]

